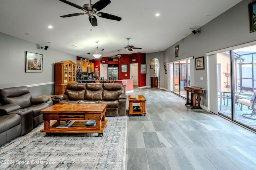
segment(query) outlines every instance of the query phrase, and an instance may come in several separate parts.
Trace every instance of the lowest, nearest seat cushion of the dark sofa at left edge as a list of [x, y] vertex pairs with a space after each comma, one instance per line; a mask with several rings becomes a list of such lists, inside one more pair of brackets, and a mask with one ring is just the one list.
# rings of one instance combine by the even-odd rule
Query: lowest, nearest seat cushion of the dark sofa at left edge
[[21, 117], [18, 114], [7, 114], [0, 116], [0, 133], [7, 131], [8, 129], [19, 125], [21, 123]]

